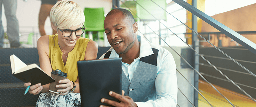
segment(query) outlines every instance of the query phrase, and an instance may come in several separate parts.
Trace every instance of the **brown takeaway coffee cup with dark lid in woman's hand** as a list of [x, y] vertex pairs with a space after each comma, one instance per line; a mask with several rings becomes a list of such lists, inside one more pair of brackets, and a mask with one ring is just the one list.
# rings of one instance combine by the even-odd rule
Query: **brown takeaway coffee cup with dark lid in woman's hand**
[[55, 92], [55, 93], [60, 93], [57, 92], [57, 90], [63, 89], [63, 88], [56, 88], [56, 85], [59, 85], [59, 81], [62, 79], [67, 78], [67, 73], [61, 72], [61, 70], [52, 70], [51, 72], [51, 77], [55, 79], [55, 82], [50, 83], [49, 91], [50, 92]]

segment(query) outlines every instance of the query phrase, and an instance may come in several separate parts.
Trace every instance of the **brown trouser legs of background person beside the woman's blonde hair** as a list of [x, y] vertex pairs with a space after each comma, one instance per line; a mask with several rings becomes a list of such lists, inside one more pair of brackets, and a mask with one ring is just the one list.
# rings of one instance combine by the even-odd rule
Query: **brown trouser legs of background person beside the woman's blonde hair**
[[[39, 27], [39, 32], [41, 36], [46, 35], [45, 30], [44, 30], [44, 23], [45, 20], [48, 16], [50, 16], [50, 11], [52, 9], [52, 4], [42, 4], [40, 11], [39, 11], [39, 15], [38, 15], [38, 27]], [[57, 31], [55, 31], [52, 29], [52, 34], [57, 33]]]

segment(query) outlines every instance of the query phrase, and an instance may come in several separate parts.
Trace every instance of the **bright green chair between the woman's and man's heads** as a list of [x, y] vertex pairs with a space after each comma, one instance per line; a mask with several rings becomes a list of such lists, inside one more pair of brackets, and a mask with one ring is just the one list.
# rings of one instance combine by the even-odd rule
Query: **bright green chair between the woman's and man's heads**
[[89, 32], [92, 32], [94, 41], [104, 40], [104, 9], [84, 8], [84, 16], [85, 37], [89, 38]]

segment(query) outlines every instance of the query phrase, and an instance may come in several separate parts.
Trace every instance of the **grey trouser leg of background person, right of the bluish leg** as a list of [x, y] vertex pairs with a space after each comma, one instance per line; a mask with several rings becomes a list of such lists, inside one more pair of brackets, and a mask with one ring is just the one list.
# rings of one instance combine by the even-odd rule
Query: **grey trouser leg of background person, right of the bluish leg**
[[7, 21], [7, 36], [11, 47], [20, 46], [19, 22], [16, 18], [17, 0], [3, 0]]

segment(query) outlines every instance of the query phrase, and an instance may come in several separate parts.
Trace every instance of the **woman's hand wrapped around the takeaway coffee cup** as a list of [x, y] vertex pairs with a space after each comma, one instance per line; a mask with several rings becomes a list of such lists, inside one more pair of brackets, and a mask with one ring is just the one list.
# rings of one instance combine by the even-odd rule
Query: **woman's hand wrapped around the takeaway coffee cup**
[[[57, 90], [57, 92], [60, 92], [60, 95], [67, 95], [69, 90], [71, 89], [71, 81], [67, 78], [67, 79], [63, 79], [59, 81], [59, 85], [56, 85], [56, 88], [63, 88], [61, 90]], [[72, 83], [73, 85], [73, 83]], [[73, 87], [73, 86], [72, 86]]]

